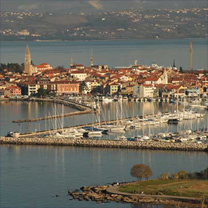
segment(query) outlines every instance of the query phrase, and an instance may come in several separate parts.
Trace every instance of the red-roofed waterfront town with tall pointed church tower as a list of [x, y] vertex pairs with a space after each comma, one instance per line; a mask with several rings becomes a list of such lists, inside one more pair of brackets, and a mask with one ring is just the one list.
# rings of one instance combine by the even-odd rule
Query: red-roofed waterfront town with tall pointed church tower
[[[1, 64], [0, 96], [28, 98], [31, 96], [88, 95], [100, 99], [176, 100], [192, 98], [197, 101], [208, 93], [207, 69], [193, 70], [192, 43], [190, 42], [190, 69], [151, 66], [135, 63], [128, 67], [109, 68], [95, 65], [93, 51], [90, 66], [77, 64], [72, 58], [69, 68], [53, 68], [49, 63], [33, 65], [29, 46], [26, 47], [24, 65], [10, 70], [12, 64]], [[18, 65], [18, 64], [17, 64]], [[106, 98], [104, 98], [104, 96]], [[116, 97], [115, 97], [116, 96]]]

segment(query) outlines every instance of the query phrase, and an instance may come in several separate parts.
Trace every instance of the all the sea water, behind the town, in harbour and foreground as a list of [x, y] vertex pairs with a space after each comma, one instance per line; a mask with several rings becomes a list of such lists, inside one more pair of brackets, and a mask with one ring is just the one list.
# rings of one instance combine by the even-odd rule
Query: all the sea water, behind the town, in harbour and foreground
[[[94, 53], [95, 64], [111, 67], [128, 66], [138, 60], [138, 64], [169, 66], [176, 60], [177, 66], [189, 66], [189, 42], [193, 42], [194, 68], [208, 68], [207, 40], [132, 40], [132, 41], [77, 41], [77, 42], [1, 42], [1, 63], [24, 61], [24, 50], [29, 45], [35, 64], [48, 62], [52, 66], [69, 67], [70, 57], [84, 65], [90, 63], [90, 50]], [[101, 114], [64, 118], [64, 126], [85, 124], [89, 121], [115, 118], [118, 108], [122, 115], [136, 116], [159, 112], [174, 112], [176, 104], [166, 102], [123, 101], [100, 103]], [[190, 108], [185, 106], [186, 109]], [[119, 112], [120, 112], [119, 110]], [[184, 110], [184, 105], [179, 105]], [[192, 110], [204, 112], [200, 107]], [[8, 131], [22, 133], [54, 128], [54, 121], [15, 124], [13, 120], [36, 118], [59, 114], [61, 105], [26, 101], [0, 101], [0, 135]], [[64, 112], [75, 109], [64, 107]], [[56, 121], [61, 125], [62, 121]], [[128, 131], [126, 136], [176, 132], [185, 129], [207, 127], [207, 115], [203, 119], [180, 122], [179, 125], [146, 127]], [[111, 139], [105, 136], [104, 139]], [[153, 171], [152, 178], [179, 170], [201, 171], [207, 168], [206, 152], [128, 150], [50, 146], [0, 145], [0, 207], [1, 208], [165, 208], [163, 205], [122, 204], [70, 200], [68, 190], [81, 186], [103, 185], [112, 182], [135, 180], [130, 175], [134, 164], [145, 163]]]

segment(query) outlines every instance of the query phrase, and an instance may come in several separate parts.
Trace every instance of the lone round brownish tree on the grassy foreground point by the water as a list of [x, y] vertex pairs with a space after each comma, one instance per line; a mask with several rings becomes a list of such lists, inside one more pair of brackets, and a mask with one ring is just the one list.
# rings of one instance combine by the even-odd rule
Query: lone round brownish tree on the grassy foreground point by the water
[[136, 164], [131, 168], [131, 176], [142, 180], [142, 178], [148, 179], [152, 176], [152, 170], [145, 164]]

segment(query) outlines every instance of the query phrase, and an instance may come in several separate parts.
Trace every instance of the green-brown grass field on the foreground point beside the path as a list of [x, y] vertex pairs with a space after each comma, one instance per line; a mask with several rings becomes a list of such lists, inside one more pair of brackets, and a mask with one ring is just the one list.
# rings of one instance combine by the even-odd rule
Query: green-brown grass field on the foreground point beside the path
[[204, 195], [207, 198], [208, 180], [148, 180], [122, 185], [119, 191], [197, 198]]

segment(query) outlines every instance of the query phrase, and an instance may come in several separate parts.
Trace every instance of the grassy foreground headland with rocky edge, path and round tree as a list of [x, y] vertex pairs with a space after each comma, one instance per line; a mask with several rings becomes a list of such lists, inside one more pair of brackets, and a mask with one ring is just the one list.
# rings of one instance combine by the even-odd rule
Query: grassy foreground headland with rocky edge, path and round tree
[[[105, 186], [83, 186], [68, 191], [71, 200], [95, 201], [96, 203], [150, 203], [176, 207], [201, 207], [208, 204], [208, 168], [200, 172], [187, 173], [182, 170], [170, 175], [164, 173], [149, 180], [152, 171], [145, 164], [134, 165], [131, 175], [138, 181], [112, 183]], [[146, 180], [142, 180], [146, 179]]]

